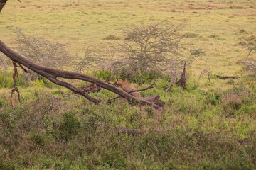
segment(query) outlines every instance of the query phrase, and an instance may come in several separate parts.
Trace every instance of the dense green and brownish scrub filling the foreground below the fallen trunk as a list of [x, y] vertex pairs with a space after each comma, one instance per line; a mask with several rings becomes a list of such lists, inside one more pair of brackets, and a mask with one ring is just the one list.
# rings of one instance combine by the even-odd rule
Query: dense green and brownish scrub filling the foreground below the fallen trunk
[[0, 93], [0, 169], [253, 169], [255, 89], [203, 91], [190, 81], [166, 93], [169, 81], [142, 91], [159, 94], [164, 111], [122, 100], [68, 101], [65, 89], [48, 89], [43, 80], [23, 91], [16, 108]]

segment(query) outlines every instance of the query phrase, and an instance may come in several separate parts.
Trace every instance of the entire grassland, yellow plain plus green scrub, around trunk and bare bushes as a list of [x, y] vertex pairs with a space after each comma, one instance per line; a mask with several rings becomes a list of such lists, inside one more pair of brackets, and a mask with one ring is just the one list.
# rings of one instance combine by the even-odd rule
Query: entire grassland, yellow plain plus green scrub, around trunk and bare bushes
[[[95, 105], [41, 77], [31, 81], [21, 70], [21, 103], [15, 96], [11, 107], [11, 67], [1, 71], [0, 169], [256, 169], [255, 78], [216, 78], [248, 74], [238, 62], [255, 59], [242, 45], [256, 41], [256, 1], [21, 2], [9, 0], [0, 14], [0, 38], [13, 49], [20, 28], [26, 35], [68, 43], [74, 56], [91, 46], [107, 57], [104, 51], [124, 41], [127, 26], [165, 21], [184, 22], [188, 51], [203, 55], [188, 65], [185, 90], [173, 86], [166, 93], [167, 75], [146, 74], [140, 84], [137, 77], [129, 80], [138, 89], [156, 82], [141, 94], [159, 94], [164, 111], [122, 99]], [[109, 35], [120, 40], [104, 40]], [[206, 68], [210, 82], [206, 76], [198, 80]], [[106, 79], [109, 72], [87, 74]], [[105, 89], [90, 95], [116, 96]], [[127, 129], [134, 133], [122, 133]]]

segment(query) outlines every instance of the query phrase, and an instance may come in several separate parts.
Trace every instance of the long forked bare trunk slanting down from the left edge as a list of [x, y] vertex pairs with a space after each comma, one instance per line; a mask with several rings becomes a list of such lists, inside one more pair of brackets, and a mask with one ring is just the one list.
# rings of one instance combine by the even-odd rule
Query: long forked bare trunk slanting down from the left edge
[[107, 84], [105, 81], [102, 81], [101, 79], [97, 79], [95, 77], [90, 77], [86, 74], [81, 74], [77, 72], [69, 72], [69, 71], [63, 71], [60, 69], [53, 69], [48, 67], [42, 67], [37, 64], [34, 64], [33, 62], [27, 60], [26, 58], [19, 55], [17, 52], [14, 52], [14, 50], [11, 50], [8, 46], [4, 44], [0, 40], [0, 51], [4, 53], [7, 57], [9, 57], [14, 62], [17, 62], [18, 64], [22, 64], [23, 66], [27, 67], [28, 69], [31, 69], [33, 72], [36, 72], [40, 74], [43, 77], [46, 77], [46, 79], [49, 79], [53, 83], [64, 86], [71, 91], [73, 91], [75, 94], [80, 94], [87, 98], [89, 101], [92, 101], [93, 103], [100, 103], [100, 100], [97, 100], [96, 98], [92, 98], [89, 96], [85, 91], [76, 88], [72, 84], [68, 84], [65, 81], [58, 80], [58, 77], [65, 78], [65, 79], [80, 79], [83, 81], [88, 81], [92, 84], [96, 84], [97, 86], [101, 86], [104, 89], [107, 89], [109, 91], [114, 92], [115, 94], [119, 94], [119, 96], [122, 96], [123, 98], [127, 98], [128, 101], [140, 101], [142, 104], [147, 104], [149, 106], [152, 106], [153, 108], [159, 109], [159, 106], [157, 106], [154, 103], [151, 103], [149, 101], [145, 101], [143, 98], [136, 98], [132, 96], [131, 94], [128, 94], [127, 92], [123, 91], [122, 89], [119, 89], [115, 86], [112, 86], [111, 84]]

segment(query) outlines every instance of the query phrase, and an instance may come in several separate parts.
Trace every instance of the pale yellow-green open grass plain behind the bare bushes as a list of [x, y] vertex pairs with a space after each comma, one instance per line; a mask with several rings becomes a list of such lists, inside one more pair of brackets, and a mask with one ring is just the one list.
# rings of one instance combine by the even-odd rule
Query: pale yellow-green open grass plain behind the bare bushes
[[[11, 26], [28, 35], [67, 42], [69, 51], [83, 55], [89, 45], [107, 50], [115, 45], [107, 35], [124, 38], [122, 29], [139, 23], [181, 23], [191, 33], [190, 49], [206, 52], [193, 65], [198, 76], [210, 67], [213, 74], [240, 73], [236, 64], [247, 56], [239, 45], [256, 32], [256, 1], [9, 1], [1, 13], [1, 40], [16, 47]], [[195, 35], [195, 36], [193, 36]], [[254, 39], [255, 40], [255, 39]]]

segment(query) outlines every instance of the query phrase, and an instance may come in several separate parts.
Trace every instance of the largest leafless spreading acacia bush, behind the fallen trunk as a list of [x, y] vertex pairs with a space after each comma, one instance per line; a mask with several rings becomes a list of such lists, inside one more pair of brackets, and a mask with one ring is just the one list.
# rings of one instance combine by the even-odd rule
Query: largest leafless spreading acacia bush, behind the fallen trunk
[[127, 74], [181, 72], [184, 60], [183, 36], [179, 33], [183, 23], [175, 26], [161, 22], [151, 25], [132, 26], [124, 30], [126, 42], [120, 44], [122, 55], [114, 62], [114, 71]]

